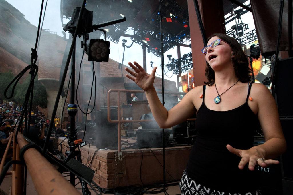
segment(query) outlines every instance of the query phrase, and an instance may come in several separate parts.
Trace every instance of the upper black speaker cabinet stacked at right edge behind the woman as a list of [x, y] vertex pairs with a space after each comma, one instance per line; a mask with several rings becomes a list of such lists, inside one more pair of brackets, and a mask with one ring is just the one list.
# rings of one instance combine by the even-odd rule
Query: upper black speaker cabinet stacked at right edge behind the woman
[[293, 116], [293, 96], [292, 83], [293, 57], [278, 61], [275, 79], [275, 93], [280, 117]]

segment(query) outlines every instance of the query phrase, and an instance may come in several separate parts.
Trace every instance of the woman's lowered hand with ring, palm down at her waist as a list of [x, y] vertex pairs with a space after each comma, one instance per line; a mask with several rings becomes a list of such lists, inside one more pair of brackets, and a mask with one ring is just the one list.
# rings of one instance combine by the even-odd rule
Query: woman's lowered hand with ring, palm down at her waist
[[229, 144], [226, 147], [231, 153], [241, 157], [241, 161], [238, 165], [239, 169], [243, 169], [247, 163], [248, 169], [251, 171], [254, 170], [256, 164], [260, 165], [261, 167], [267, 167], [269, 165], [277, 165], [280, 163], [279, 161], [275, 161], [272, 159], [265, 160], [264, 154], [253, 147], [248, 150], [239, 150], [233, 148]]

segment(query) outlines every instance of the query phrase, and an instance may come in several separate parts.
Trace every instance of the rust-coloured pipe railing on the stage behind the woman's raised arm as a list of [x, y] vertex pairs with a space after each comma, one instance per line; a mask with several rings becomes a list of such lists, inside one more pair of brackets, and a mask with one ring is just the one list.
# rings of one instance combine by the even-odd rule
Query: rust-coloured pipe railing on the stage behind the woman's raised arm
[[[118, 107], [118, 120], [112, 120], [111, 119], [111, 108], [110, 108], [110, 97], [112, 92], [117, 92], [117, 107]], [[108, 121], [110, 123], [118, 123], [118, 151], [121, 151], [121, 123], [129, 122], [153, 122], [153, 120], [122, 120], [121, 119], [121, 100], [120, 100], [120, 94], [121, 92], [134, 92], [134, 93], [144, 93], [143, 90], [128, 90], [128, 89], [110, 89], [107, 94], [107, 107], [108, 107]], [[162, 92], [157, 92], [161, 94]], [[175, 95], [185, 95], [184, 92], [164, 92], [165, 94], [175, 94]], [[195, 119], [188, 119], [188, 120], [195, 120]]]

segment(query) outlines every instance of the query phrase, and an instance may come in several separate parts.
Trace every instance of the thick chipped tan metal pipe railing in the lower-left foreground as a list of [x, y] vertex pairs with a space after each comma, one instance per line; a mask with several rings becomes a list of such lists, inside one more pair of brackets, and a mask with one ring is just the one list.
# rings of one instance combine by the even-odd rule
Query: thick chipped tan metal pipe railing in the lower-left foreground
[[[13, 157], [10, 162], [21, 162], [20, 161], [20, 151], [21, 149], [28, 145], [29, 142], [25, 140], [23, 135], [18, 132], [17, 142], [15, 137], [16, 130], [13, 134]], [[8, 149], [12, 140], [12, 136], [9, 139], [8, 145], [4, 157], [1, 161], [0, 171], [1, 175], [8, 170], [8, 166], [4, 167], [5, 159], [8, 153]], [[42, 156], [42, 154], [35, 148], [30, 148], [23, 154], [23, 159], [30, 176], [33, 180], [35, 189], [38, 194], [71, 194], [80, 195], [79, 191], [75, 189], [62, 175], [60, 172], [53, 167], [53, 165], [47, 161], [47, 159]], [[9, 165], [9, 164], [8, 164]], [[24, 186], [24, 165], [13, 164], [12, 171], [6, 172], [6, 175], [12, 175], [12, 185], [11, 194], [21, 195], [26, 191]], [[2, 173], [2, 171], [4, 171]], [[26, 193], [26, 192], [25, 192]]]

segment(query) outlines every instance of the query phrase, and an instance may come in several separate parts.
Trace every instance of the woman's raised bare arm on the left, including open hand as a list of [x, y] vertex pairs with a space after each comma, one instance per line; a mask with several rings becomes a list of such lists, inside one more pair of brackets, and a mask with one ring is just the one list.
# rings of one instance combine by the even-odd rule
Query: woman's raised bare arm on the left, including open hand
[[127, 74], [126, 77], [136, 82], [137, 85], [146, 92], [151, 112], [159, 127], [172, 127], [188, 119], [195, 113], [195, 107], [192, 101], [192, 94], [195, 93], [195, 89], [188, 92], [176, 106], [167, 111], [159, 100], [154, 88], [154, 78], [157, 67], [155, 67], [151, 75], [149, 75], [137, 62], [134, 62], [134, 65], [130, 62], [128, 64], [135, 72], [129, 68], [125, 68], [125, 70], [132, 75], [130, 76]]

